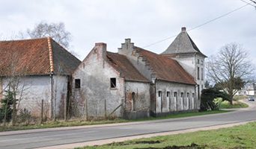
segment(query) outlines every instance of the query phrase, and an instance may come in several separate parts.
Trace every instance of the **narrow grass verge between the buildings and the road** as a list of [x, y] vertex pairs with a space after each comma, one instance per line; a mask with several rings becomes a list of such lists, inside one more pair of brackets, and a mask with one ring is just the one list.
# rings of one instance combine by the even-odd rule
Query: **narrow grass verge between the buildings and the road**
[[189, 113], [181, 113], [181, 114], [173, 114], [166, 115], [162, 117], [150, 117], [150, 118], [139, 118], [135, 120], [125, 120], [122, 118], [115, 118], [114, 120], [98, 120], [98, 121], [47, 121], [43, 124], [17, 124], [15, 127], [13, 126], [0, 126], [1, 131], [10, 131], [10, 130], [29, 130], [29, 129], [40, 129], [40, 128], [50, 128], [50, 127], [71, 127], [71, 126], [82, 126], [82, 125], [92, 125], [92, 124], [113, 124], [113, 123], [123, 123], [123, 122], [132, 122], [132, 121], [148, 121], [148, 120], [157, 120], [157, 119], [165, 119], [165, 118], [182, 118], [189, 117], [195, 115], [209, 115], [216, 114], [222, 112], [230, 112], [225, 110], [216, 110], [216, 111], [207, 111], [207, 112], [189, 112]]

